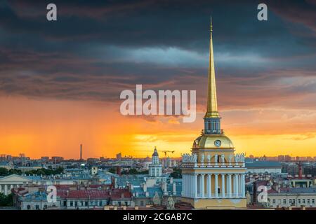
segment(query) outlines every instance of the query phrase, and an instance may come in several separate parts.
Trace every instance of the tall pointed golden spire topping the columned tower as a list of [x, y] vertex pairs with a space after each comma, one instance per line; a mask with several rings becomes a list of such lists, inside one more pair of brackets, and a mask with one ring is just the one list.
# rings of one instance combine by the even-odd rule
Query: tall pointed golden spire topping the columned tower
[[219, 118], [217, 110], [217, 97], [216, 97], [216, 81], [213, 57], [213, 41], [212, 41], [212, 18], [210, 26], [210, 40], [209, 40], [209, 78], [207, 84], [207, 111], [205, 118]]

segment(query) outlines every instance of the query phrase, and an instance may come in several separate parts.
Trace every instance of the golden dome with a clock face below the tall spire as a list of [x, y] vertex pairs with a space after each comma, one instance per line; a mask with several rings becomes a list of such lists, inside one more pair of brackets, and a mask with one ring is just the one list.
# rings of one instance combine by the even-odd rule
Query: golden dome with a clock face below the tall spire
[[203, 134], [195, 139], [192, 149], [234, 149], [232, 141], [225, 134]]

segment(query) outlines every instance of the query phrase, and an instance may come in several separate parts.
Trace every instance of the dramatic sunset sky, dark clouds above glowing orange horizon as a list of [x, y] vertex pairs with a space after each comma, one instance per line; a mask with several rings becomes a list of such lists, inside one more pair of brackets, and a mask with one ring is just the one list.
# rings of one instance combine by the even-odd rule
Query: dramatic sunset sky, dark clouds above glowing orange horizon
[[[55, 3], [58, 20], [46, 20]], [[316, 1], [0, 0], [0, 154], [189, 153], [209, 18], [222, 128], [246, 155], [316, 156]], [[122, 116], [123, 90], [196, 90], [197, 119]]]

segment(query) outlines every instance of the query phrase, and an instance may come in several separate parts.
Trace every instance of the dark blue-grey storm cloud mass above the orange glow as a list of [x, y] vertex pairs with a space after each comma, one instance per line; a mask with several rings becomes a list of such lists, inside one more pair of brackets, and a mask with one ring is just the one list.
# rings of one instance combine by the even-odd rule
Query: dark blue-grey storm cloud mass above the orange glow
[[[315, 92], [315, 1], [1, 1], [0, 94], [112, 102], [146, 88], [205, 102], [209, 16], [220, 106], [308, 106]], [[277, 3], [276, 3], [277, 2]], [[199, 107], [199, 106], [198, 106]]]

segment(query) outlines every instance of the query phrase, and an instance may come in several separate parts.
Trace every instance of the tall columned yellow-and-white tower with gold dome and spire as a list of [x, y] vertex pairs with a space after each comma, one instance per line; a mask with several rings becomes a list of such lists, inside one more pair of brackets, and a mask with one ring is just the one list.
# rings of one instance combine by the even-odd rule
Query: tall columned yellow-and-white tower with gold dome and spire
[[183, 155], [183, 201], [195, 209], [246, 208], [244, 154], [235, 155], [232, 141], [220, 129], [213, 59], [212, 23], [204, 130]]

